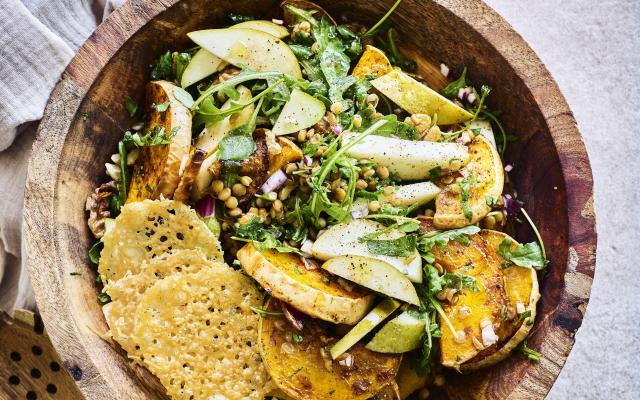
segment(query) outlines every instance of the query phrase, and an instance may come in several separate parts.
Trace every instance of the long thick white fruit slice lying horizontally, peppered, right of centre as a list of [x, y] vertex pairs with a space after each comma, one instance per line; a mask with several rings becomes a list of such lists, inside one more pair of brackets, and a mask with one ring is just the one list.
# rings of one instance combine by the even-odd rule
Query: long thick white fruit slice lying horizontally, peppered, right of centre
[[[343, 143], [354, 136], [351, 132], [343, 133]], [[469, 159], [467, 148], [458, 143], [413, 141], [377, 135], [365, 137], [347, 150], [347, 155], [358, 160], [371, 160], [408, 181], [425, 180], [429, 178], [429, 171], [436, 167], [449, 172], [457, 171]]]

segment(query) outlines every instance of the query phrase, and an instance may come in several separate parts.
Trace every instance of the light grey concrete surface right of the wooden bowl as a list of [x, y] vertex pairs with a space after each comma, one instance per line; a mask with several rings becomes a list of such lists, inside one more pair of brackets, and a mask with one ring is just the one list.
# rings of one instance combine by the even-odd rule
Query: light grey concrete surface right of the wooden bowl
[[567, 98], [595, 178], [596, 276], [550, 399], [640, 399], [640, 1], [486, 0]]

